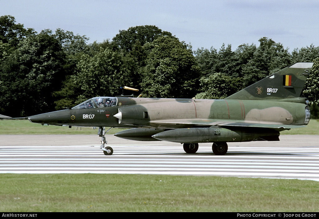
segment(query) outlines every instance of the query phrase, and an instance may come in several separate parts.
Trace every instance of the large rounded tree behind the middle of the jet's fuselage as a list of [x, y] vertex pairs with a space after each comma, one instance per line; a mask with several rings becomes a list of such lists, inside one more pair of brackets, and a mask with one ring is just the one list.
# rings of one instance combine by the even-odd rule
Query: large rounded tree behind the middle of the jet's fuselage
[[192, 98], [197, 93], [199, 68], [193, 54], [175, 37], [145, 44], [146, 63], [141, 89], [146, 97]]

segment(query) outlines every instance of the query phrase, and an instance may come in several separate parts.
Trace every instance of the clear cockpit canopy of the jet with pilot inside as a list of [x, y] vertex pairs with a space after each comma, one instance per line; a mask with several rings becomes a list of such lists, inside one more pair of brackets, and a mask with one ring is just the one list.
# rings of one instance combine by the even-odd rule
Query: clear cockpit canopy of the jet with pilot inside
[[116, 106], [117, 97], [98, 96], [93, 97], [83, 103], [78, 104], [72, 109], [93, 109]]

